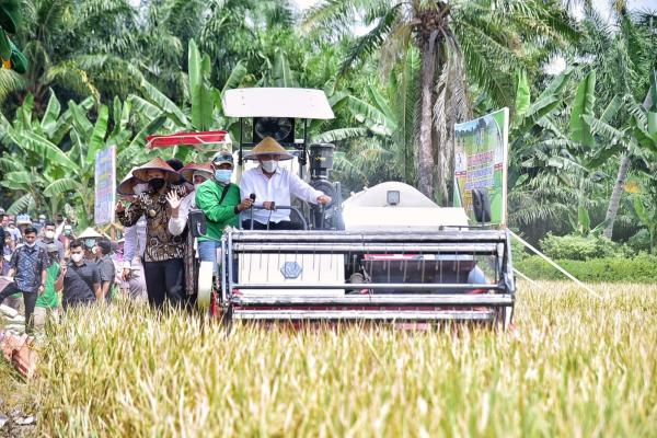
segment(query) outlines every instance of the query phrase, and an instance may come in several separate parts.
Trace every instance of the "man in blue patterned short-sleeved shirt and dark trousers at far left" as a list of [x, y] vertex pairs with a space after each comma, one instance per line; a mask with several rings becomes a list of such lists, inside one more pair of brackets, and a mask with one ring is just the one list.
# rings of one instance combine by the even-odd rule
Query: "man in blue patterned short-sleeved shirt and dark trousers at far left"
[[8, 277], [13, 279], [0, 293], [0, 303], [19, 292], [23, 295], [25, 304], [25, 331], [32, 333], [34, 327], [34, 306], [38, 295], [44, 292], [46, 268], [49, 265], [46, 250], [36, 245], [36, 230], [27, 227], [24, 233], [25, 244], [16, 249], [11, 256]]

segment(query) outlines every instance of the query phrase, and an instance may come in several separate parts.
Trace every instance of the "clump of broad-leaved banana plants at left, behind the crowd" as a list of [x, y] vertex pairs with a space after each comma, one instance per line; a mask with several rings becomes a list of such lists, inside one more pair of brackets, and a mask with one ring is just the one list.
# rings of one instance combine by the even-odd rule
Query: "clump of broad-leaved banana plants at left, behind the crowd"
[[0, 139], [9, 145], [9, 153], [0, 158], [0, 185], [16, 194], [10, 212], [53, 217], [66, 211], [79, 227], [92, 221], [96, 153], [110, 146], [125, 150], [148, 131], [147, 126], [134, 134], [128, 102], [115, 99], [113, 117], [110, 108], [101, 105], [92, 118], [93, 106], [91, 97], [69, 101], [61, 113], [61, 104], [50, 91], [41, 120], [32, 116], [31, 99], [19, 108], [14, 122], [0, 116]]

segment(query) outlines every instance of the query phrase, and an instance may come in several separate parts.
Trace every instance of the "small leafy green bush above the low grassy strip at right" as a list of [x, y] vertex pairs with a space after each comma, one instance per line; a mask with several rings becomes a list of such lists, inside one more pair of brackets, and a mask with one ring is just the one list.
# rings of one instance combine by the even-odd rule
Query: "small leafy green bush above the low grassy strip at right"
[[541, 250], [551, 258], [588, 261], [610, 257], [619, 252], [619, 245], [602, 237], [548, 234], [540, 242]]

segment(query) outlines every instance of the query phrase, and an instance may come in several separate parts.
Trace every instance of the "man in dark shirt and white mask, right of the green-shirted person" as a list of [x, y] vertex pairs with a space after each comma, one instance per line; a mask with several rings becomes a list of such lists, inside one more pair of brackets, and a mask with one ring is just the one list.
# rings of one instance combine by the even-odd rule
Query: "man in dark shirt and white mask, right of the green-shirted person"
[[61, 268], [55, 284], [64, 289], [61, 307], [66, 311], [71, 306], [89, 304], [101, 297], [101, 275], [95, 263], [84, 260], [83, 243], [74, 240], [70, 245], [71, 261]]

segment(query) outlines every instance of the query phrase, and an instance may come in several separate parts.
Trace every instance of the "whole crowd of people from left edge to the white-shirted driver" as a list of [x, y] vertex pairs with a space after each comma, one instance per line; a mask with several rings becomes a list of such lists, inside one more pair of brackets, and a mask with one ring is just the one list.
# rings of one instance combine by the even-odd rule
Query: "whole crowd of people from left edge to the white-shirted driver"
[[[110, 303], [120, 291], [129, 299], [148, 299], [151, 307], [185, 307], [194, 296], [194, 263], [217, 265], [217, 250], [227, 227], [298, 229], [288, 210], [291, 197], [311, 204], [331, 198], [279, 165], [289, 154], [265, 138], [245, 159], [258, 162], [233, 178], [233, 155], [215, 153], [209, 163], [155, 158], [132, 169], [119, 183], [116, 219], [123, 239], [112, 242], [94, 229], [80, 235], [61, 215], [32, 222], [25, 215], [2, 215], [0, 303], [18, 307], [23, 298], [26, 328], [76, 306]], [[254, 208], [255, 207], [255, 208]], [[189, 211], [200, 209], [207, 232], [188, 233]], [[245, 211], [254, 208], [250, 215]], [[60, 311], [61, 309], [61, 311]]]

